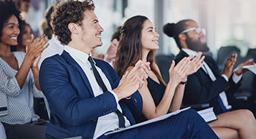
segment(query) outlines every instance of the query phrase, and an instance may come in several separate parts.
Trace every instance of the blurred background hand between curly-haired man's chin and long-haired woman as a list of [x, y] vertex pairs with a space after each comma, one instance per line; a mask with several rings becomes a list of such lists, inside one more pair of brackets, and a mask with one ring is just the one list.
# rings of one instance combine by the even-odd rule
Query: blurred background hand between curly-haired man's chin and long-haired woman
[[111, 42], [110, 46], [107, 49], [106, 55], [105, 55], [105, 60], [110, 63], [110, 61], [116, 57], [116, 51], [117, 51], [117, 47], [118, 47], [118, 40], [117, 39], [113, 39], [113, 41]]

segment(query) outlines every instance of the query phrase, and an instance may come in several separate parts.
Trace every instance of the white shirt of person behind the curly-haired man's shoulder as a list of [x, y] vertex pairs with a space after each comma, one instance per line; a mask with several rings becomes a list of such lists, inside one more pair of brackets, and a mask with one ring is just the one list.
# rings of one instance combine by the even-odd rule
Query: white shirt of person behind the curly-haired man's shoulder
[[42, 61], [45, 60], [45, 58], [59, 54], [63, 52], [64, 45], [61, 44], [61, 42], [57, 39], [57, 36], [53, 34], [52, 38], [48, 41], [49, 46], [42, 51], [41, 58], [38, 62], [38, 68], [40, 69], [40, 66], [42, 64]]

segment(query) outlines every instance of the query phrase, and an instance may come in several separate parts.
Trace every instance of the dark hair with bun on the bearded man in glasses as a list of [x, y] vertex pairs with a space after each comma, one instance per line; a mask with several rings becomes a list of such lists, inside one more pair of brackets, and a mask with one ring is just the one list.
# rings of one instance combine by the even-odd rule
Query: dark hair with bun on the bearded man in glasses
[[178, 48], [181, 49], [180, 40], [178, 38], [178, 34], [187, 28], [187, 21], [191, 20], [181, 20], [178, 23], [167, 23], [163, 26], [162, 31], [170, 37], [173, 37], [178, 45]]

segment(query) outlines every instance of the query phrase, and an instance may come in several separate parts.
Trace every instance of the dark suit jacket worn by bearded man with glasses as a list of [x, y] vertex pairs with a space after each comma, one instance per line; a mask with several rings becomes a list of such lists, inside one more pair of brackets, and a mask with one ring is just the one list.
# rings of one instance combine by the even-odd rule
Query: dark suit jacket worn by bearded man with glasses
[[[174, 57], [174, 60], [178, 63], [183, 57], [188, 56], [186, 52], [181, 50], [178, 55]], [[213, 71], [217, 79], [212, 82], [208, 74], [203, 71], [203, 68], [200, 68], [195, 74], [189, 75], [184, 91], [183, 104], [193, 105], [209, 103], [210, 106], [214, 107], [214, 112], [220, 114], [222, 111], [219, 109], [218, 95], [225, 91], [230, 105], [233, 106], [233, 108], [239, 106], [240, 102], [236, 100], [233, 93], [241, 86], [241, 81], [235, 84], [231, 76], [229, 82], [227, 82], [224, 77], [221, 76], [217, 63], [212, 57], [205, 55], [204, 61], [209, 68], [211, 68], [211, 71]]]

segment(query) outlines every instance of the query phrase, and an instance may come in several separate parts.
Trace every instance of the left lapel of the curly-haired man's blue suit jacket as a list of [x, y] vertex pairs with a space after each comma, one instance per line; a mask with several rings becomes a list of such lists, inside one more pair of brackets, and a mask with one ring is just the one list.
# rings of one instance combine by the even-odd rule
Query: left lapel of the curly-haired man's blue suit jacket
[[69, 55], [68, 52], [63, 51], [63, 53], [61, 54], [61, 57], [63, 57], [63, 59], [69, 64], [74, 66], [78, 72], [80, 73], [84, 84], [86, 84], [86, 87], [88, 87], [89, 92], [91, 94], [91, 97], [94, 98], [94, 92], [91, 89], [91, 84], [89, 83], [89, 80], [86, 76], [86, 74], [83, 72], [83, 69], [80, 67], [80, 65], [78, 65], [78, 63], [75, 62], [75, 60]]

